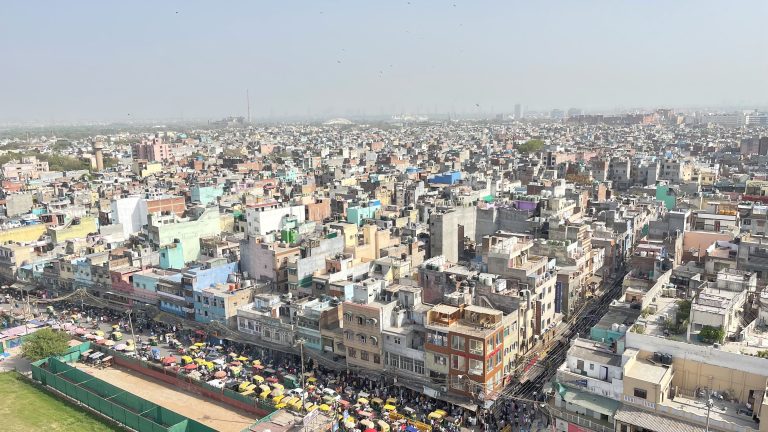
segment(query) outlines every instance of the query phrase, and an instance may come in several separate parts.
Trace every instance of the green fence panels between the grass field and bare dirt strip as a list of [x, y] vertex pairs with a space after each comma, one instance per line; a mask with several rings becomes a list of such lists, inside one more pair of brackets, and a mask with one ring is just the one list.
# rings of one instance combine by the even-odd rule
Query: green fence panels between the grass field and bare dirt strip
[[[65, 358], [85, 349], [68, 352]], [[74, 357], [77, 358], [77, 357]], [[214, 432], [202, 423], [142, 399], [57, 358], [32, 364], [32, 378], [139, 432]]]

